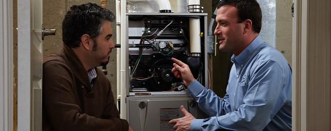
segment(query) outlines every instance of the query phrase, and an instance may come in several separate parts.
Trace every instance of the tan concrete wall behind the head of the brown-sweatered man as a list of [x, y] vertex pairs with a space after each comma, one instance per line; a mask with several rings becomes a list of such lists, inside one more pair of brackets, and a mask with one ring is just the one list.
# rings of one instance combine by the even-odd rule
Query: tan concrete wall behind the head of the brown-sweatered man
[[[66, 11], [72, 5], [83, 3], [97, 3], [101, 6], [100, 0], [43, 0], [43, 23], [45, 29], [55, 28], [55, 36], [46, 36], [43, 41], [43, 56], [62, 49], [62, 21]], [[115, 0], [108, 0], [107, 7], [116, 14]], [[113, 36], [112, 40], [116, 43], [116, 21], [111, 23]], [[106, 75], [112, 85], [114, 98], [116, 99], [116, 49], [110, 54], [109, 64], [107, 65], [108, 74]]]

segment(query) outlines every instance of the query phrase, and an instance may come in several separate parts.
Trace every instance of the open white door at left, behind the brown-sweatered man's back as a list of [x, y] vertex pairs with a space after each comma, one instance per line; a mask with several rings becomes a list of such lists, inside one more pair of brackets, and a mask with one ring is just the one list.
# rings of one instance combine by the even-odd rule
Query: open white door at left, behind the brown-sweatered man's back
[[18, 18], [18, 131], [42, 130], [42, 0], [19, 0]]

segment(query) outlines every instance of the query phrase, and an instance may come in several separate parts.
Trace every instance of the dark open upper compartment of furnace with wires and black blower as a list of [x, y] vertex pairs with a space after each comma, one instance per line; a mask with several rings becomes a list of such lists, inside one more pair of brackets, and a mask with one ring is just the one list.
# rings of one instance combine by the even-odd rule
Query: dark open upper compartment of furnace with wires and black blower
[[[187, 16], [186, 16], [187, 15]], [[194, 16], [193, 16], [194, 15]], [[205, 17], [171, 13], [128, 15], [129, 92], [184, 91], [182, 80], [171, 73], [172, 57], [190, 66], [194, 77], [206, 83]], [[200, 56], [190, 52], [190, 18], [199, 18]], [[137, 47], [137, 48], [132, 48]], [[140, 47], [140, 48], [139, 48]], [[132, 93], [131, 93], [132, 94]]]

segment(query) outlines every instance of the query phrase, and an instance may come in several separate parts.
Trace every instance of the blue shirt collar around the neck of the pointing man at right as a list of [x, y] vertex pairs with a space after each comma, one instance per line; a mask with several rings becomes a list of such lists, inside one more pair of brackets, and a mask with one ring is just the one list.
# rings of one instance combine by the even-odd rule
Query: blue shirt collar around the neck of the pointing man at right
[[264, 41], [259, 34], [238, 56], [235, 56], [233, 54], [231, 57], [231, 61], [233, 63], [236, 62], [239, 65], [245, 66], [250, 56], [263, 42]]

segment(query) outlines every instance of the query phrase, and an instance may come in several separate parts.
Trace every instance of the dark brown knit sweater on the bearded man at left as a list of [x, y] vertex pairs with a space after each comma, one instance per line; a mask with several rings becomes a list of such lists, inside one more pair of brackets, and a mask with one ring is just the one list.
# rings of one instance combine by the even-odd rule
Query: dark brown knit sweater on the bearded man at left
[[107, 77], [96, 68], [91, 90], [83, 64], [63, 47], [43, 60], [43, 131], [128, 131]]

